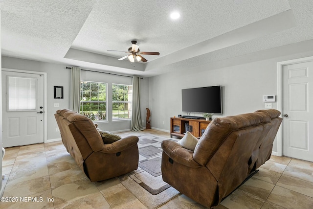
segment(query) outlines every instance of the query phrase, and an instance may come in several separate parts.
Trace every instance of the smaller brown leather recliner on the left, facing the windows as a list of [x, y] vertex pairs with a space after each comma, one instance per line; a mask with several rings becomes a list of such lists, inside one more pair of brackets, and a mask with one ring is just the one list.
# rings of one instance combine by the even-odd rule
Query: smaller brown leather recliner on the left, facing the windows
[[58, 110], [54, 116], [67, 152], [91, 182], [110, 179], [138, 168], [138, 137], [129, 136], [104, 144], [87, 116], [67, 109]]

